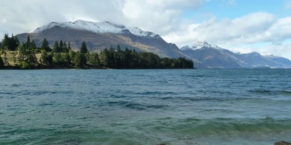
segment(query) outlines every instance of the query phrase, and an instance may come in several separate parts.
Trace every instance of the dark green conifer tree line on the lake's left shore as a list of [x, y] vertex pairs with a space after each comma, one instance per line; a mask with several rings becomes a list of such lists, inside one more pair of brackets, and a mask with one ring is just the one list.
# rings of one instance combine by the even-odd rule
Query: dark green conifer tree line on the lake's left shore
[[[186, 58], [160, 58], [151, 52], [136, 52], [118, 44], [100, 53], [89, 52], [85, 42], [80, 51], [71, 49], [70, 42], [56, 41], [53, 48], [45, 38], [37, 47], [34, 40], [27, 37], [19, 43], [16, 36], [4, 35], [0, 43], [0, 68], [50, 69], [50, 68], [112, 68], [112, 69], [192, 69], [192, 60]], [[38, 57], [37, 57], [38, 54]], [[2, 56], [2, 57], [1, 57]]]

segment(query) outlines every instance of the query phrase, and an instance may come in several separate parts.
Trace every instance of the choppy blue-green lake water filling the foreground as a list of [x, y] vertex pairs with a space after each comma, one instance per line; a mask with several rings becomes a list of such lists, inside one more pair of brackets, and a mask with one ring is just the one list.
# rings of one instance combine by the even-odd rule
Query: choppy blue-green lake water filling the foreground
[[291, 141], [291, 70], [2, 70], [0, 144]]

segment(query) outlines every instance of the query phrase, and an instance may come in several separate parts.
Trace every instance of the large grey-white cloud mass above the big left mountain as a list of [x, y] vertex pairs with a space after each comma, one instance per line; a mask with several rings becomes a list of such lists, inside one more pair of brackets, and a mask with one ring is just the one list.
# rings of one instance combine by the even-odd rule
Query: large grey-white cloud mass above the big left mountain
[[[28, 32], [52, 21], [109, 20], [161, 35], [178, 28], [181, 14], [202, 0], [6, 0], [0, 2], [0, 34]], [[4, 21], [5, 20], [5, 21]]]

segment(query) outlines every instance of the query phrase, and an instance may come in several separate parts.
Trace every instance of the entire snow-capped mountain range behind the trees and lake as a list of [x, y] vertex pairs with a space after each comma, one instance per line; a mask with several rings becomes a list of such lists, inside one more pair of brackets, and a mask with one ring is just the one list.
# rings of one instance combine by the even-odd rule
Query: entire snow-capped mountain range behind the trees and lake
[[63, 40], [70, 42], [73, 49], [79, 49], [81, 43], [85, 41], [90, 51], [101, 51], [111, 45], [120, 44], [122, 48], [153, 52], [160, 57], [192, 59], [194, 66], [201, 69], [291, 68], [291, 61], [287, 58], [262, 56], [257, 52], [233, 53], [207, 42], [198, 42], [191, 47], [187, 45], [179, 49], [176, 44], [165, 42], [153, 32], [137, 27], [127, 28], [108, 21], [51, 22], [30, 33], [16, 36], [20, 42], [25, 42], [28, 35], [39, 46], [44, 38], [47, 38], [51, 47], [56, 40]]

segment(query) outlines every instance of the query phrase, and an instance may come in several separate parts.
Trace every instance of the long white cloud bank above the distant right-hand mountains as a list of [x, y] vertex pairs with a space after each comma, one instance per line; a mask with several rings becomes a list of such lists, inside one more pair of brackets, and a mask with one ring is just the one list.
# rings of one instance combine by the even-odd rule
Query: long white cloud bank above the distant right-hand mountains
[[164, 35], [163, 38], [180, 46], [196, 41], [216, 44], [282, 42], [291, 38], [291, 17], [276, 18], [273, 14], [263, 12], [232, 20], [212, 17], [201, 24], [190, 24], [182, 31]]

